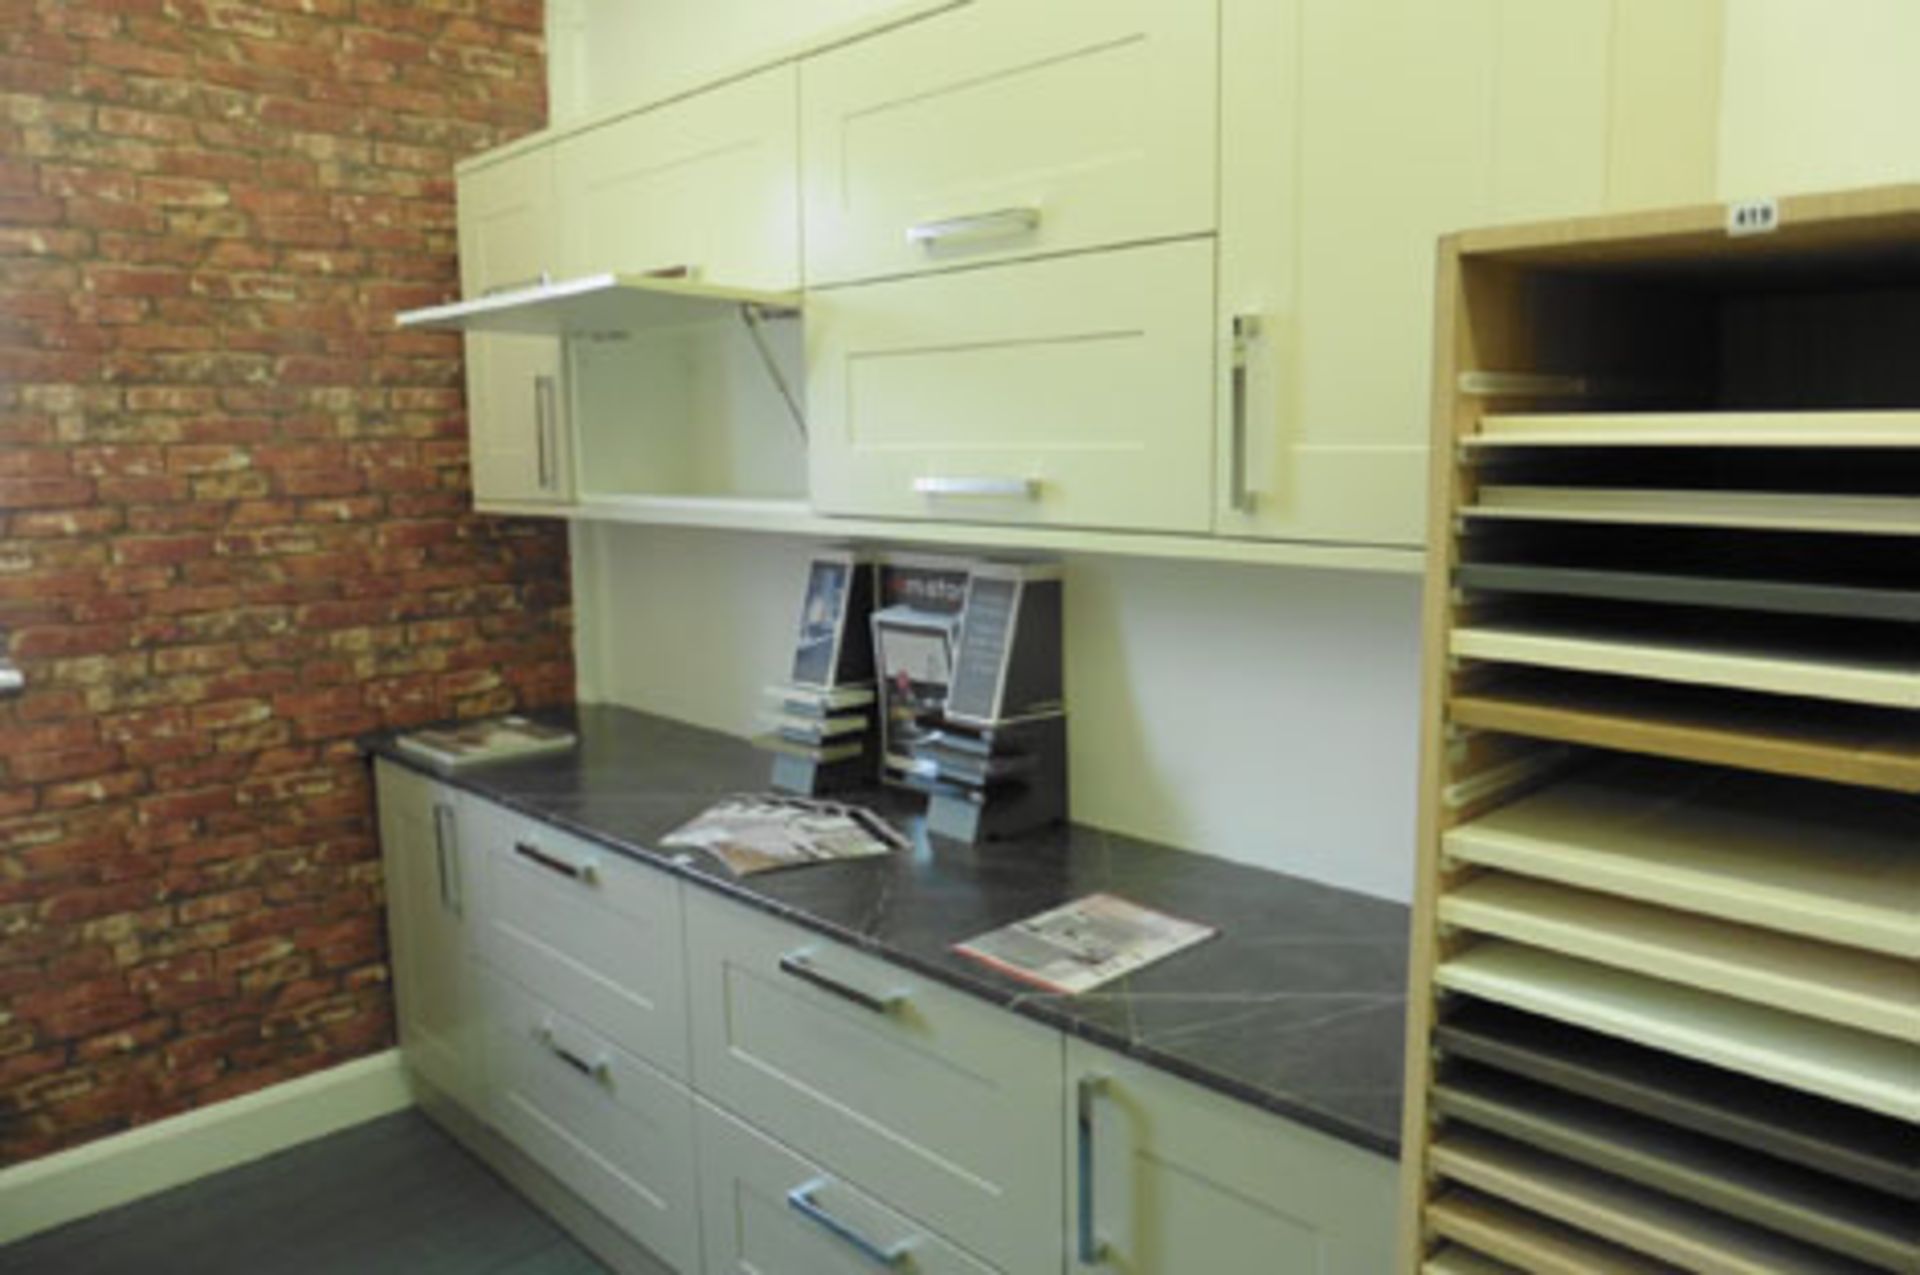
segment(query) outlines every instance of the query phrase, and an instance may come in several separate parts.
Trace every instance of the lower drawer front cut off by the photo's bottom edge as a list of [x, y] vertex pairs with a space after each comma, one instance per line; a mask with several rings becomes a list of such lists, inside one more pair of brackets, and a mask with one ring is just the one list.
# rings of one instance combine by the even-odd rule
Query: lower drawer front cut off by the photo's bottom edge
[[995, 1267], [699, 1102], [707, 1275], [989, 1275]]

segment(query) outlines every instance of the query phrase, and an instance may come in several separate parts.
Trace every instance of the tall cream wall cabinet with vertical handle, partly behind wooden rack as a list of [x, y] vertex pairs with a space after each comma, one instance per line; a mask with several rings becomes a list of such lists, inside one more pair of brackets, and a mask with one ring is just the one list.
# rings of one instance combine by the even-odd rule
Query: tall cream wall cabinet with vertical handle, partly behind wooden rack
[[1215, 530], [1423, 541], [1440, 236], [1701, 198], [1701, 2], [1223, 0]]

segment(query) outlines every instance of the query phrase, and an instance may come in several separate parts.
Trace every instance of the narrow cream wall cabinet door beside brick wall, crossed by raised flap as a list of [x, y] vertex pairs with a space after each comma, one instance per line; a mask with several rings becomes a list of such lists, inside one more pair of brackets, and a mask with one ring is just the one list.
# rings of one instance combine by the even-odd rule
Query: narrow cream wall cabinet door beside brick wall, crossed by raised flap
[[[507, 292], [559, 273], [553, 150], [534, 148], [459, 179], [461, 294]], [[564, 505], [572, 455], [559, 338], [467, 338], [474, 501]]]

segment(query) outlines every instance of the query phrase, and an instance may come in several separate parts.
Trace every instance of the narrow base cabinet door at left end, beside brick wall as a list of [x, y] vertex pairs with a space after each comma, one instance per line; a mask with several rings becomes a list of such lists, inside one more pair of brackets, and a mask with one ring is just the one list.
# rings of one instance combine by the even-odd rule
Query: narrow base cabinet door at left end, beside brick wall
[[461, 835], [467, 803], [386, 762], [376, 795], [401, 1054], [434, 1087], [468, 1110], [484, 1110], [484, 1016], [470, 945], [486, 908], [480, 872]]

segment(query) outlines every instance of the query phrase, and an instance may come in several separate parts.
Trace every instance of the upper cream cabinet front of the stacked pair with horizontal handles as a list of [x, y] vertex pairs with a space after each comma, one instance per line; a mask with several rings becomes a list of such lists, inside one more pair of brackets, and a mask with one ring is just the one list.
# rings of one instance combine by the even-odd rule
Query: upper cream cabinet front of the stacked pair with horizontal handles
[[806, 282], [1213, 229], [1215, 0], [975, 0], [801, 71]]

